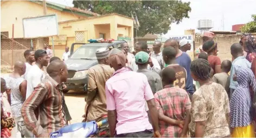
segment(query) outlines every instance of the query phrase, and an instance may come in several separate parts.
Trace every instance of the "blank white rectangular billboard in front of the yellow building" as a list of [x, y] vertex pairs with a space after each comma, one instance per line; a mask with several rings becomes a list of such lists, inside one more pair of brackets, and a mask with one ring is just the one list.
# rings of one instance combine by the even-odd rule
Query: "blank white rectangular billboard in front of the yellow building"
[[56, 36], [59, 33], [57, 15], [23, 18], [24, 38]]

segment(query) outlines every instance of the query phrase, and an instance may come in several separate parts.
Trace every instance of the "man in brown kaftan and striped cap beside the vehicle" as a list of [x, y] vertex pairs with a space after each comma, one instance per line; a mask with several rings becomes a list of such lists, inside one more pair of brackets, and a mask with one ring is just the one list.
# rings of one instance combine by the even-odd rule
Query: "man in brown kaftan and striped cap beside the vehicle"
[[97, 65], [88, 69], [88, 94], [86, 101], [85, 121], [100, 121], [107, 117], [105, 83], [110, 78], [114, 69], [108, 65], [108, 48], [96, 51]]

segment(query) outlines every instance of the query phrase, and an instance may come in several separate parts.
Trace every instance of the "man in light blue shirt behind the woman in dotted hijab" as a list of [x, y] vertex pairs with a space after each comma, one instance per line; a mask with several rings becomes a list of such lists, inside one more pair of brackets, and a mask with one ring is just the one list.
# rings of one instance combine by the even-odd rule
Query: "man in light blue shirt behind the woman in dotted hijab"
[[238, 86], [238, 82], [233, 81], [235, 71], [237, 71], [239, 68], [251, 69], [251, 63], [244, 57], [241, 44], [234, 43], [231, 45], [231, 55], [233, 56], [234, 61], [232, 62], [232, 67], [230, 71], [230, 97], [236, 89], [236, 86]]

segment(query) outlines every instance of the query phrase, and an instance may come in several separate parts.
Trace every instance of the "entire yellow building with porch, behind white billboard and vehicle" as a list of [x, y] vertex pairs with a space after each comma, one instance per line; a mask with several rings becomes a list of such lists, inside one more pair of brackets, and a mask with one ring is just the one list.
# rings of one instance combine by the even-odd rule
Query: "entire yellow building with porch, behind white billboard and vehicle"
[[[53, 39], [55, 56], [60, 58], [66, 46], [70, 47], [74, 42], [87, 43], [91, 38], [118, 40], [118, 37], [129, 37], [133, 42], [133, 20], [130, 17], [118, 14], [100, 16], [87, 10], [47, 2], [47, 15], [52, 14], [57, 15], [59, 22], [59, 36]], [[52, 45], [52, 37], [32, 40], [23, 38], [22, 19], [42, 15], [42, 1], [1, 1], [1, 60], [4, 61], [1, 63], [24, 61], [23, 52], [30, 49], [31, 43], [36, 49], [42, 48], [43, 43]], [[15, 40], [13, 54], [12, 41], [8, 39], [12, 37], [12, 24]]]

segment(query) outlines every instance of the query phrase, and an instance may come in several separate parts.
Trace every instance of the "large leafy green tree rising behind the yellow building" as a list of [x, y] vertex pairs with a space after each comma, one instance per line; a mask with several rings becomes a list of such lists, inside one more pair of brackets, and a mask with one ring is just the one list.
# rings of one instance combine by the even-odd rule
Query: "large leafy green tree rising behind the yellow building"
[[118, 13], [131, 17], [132, 11], [140, 24], [138, 36], [166, 34], [171, 23], [181, 23], [183, 18], [189, 18], [191, 11], [190, 2], [181, 1], [73, 1], [73, 4], [100, 15]]

